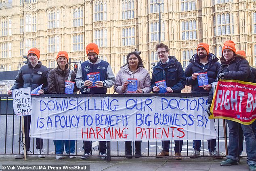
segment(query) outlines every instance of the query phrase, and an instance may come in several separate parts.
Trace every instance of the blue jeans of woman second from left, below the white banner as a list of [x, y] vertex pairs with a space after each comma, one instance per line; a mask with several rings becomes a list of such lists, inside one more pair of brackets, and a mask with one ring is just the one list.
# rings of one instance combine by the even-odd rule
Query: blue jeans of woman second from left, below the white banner
[[63, 154], [64, 145], [67, 155], [75, 153], [75, 140], [53, 140], [56, 149], [56, 155]]

